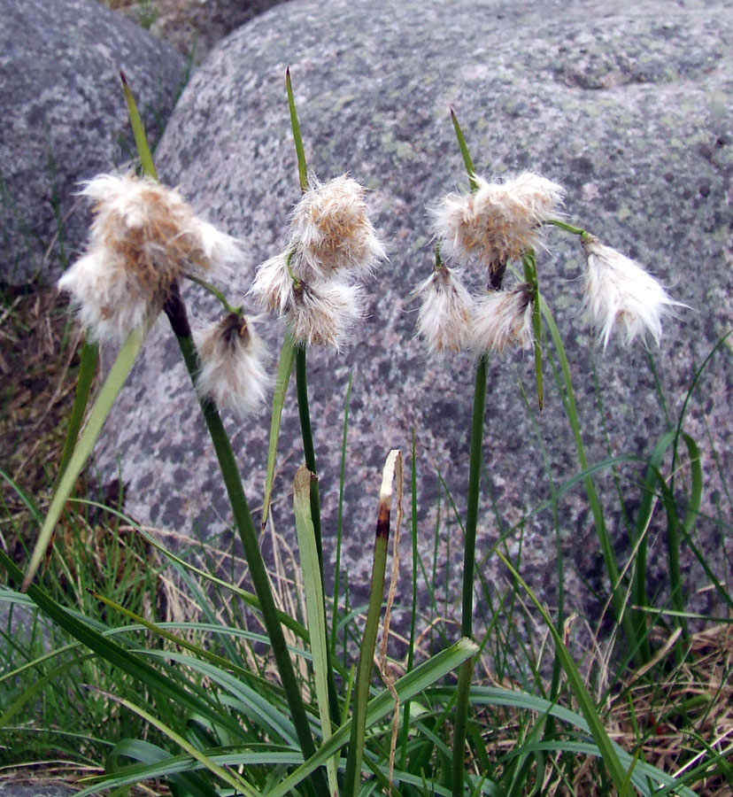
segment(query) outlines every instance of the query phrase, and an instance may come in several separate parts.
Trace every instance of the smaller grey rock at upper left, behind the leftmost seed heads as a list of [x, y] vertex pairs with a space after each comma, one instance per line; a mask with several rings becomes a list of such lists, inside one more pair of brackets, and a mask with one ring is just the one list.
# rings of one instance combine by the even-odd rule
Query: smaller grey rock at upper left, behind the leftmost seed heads
[[119, 70], [155, 136], [185, 64], [93, 0], [0, 0], [0, 19], [0, 280], [50, 280], [86, 236], [76, 184], [135, 152]]

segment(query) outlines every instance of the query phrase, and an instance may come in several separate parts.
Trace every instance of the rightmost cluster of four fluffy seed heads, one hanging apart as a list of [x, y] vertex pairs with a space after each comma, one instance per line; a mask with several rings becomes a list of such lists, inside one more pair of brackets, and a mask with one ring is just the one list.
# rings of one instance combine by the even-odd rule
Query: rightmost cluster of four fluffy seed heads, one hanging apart
[[[474, 191], [447, 194], [432, 212], [436, 266], [413, 294], [422, 303], [418, 334], [431, 351], [467, 349], [480, 355], [532, 346], [539, 282], [535, 276], [503, 290], [504, 278], [513, 262], [525, 265], [527, 276], [525, 261], [535, 263], [550, 225], [580, 236], [587, 262], [584, 303], [604, 347], [616, 327], [624, 344], [647, 333], [660, 344], [661, 321], [680, 303], [633, 260], [561, 221], [562, 186], [530, 172], [504, 182], [475, 174], [472, 180]], [[474, 264], [488, 269], [488, 284], [472, 295], [463, 280]]]

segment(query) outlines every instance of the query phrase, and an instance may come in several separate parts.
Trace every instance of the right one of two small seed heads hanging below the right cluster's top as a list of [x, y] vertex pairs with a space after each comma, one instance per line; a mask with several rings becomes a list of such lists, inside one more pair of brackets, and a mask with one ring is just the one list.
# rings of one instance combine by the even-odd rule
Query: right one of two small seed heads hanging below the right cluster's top
[[534, 343], [532, 307], [532, 289], [527, 282], [479, 298], [471, 328], [475, 351], [503, 352], [508, 346], [529, 349]]

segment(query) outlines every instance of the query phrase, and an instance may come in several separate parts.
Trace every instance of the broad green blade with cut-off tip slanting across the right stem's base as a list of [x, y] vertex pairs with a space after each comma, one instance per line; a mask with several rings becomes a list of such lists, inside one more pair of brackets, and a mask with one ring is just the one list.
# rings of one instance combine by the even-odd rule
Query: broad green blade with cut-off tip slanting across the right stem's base
[[[436, 654], [427, 662], [419, 664], [412, 672], [407, 673], [395, 683], [395, 691], [399, 695], [401, 702], [410, 700], [420, 694], [429, 686], [448, 675], [465, 662], [468, 656], [472, 656], [478, 650], [478, 646], [470, 639], [461, 638], [458, 642], [439, 654]], [[387, 690], [369, 701], [366, 707], [366, 728], [379, 723], [394, 710], [394, 698]], [[284, 797], [291, 790], [307, 778], [313, 770], [318, 769], [328, 761], [336, 750], [346, 744], [351, 733], [351, 720], [343, 723], [326, 744], [322, 745], [317, 753], [308, 759], [297, 770], [291, 772], [287, 778], [283, 778], [278, 784], [266, 792], [267, 797]]]

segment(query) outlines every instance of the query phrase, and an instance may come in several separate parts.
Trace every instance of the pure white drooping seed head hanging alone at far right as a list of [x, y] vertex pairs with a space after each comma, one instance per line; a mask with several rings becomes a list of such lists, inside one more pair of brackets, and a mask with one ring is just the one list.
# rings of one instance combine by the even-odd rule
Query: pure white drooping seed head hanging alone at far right
[[586, 236], [583, 250], [588, 264], [584, 304], [604, 348], [615, 326], [627, 346], [647, 333], [659, 345], [662, 319], [673, 314], [675, 306], [683, 305], [637, 262], [601, 244], [598, 238]]

